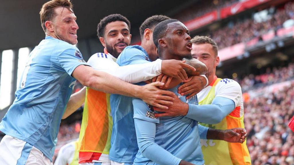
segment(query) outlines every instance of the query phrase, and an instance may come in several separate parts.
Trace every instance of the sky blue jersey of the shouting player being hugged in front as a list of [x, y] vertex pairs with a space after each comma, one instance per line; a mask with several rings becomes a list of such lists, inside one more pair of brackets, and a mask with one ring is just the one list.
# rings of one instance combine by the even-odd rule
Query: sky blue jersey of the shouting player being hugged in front
[[[198, 105], [196, 95], [186, 100], [186, 96], [178, 94], [179, 86], [170, 91], [181, 101]], [[133, 107], [139, 146], [134, 164], [178, 165], [182, 159], [197, 165], [204, 163], [198, 121], [185, 116], [154, 117], [152, 106], [139, 98], [133, 98]]]

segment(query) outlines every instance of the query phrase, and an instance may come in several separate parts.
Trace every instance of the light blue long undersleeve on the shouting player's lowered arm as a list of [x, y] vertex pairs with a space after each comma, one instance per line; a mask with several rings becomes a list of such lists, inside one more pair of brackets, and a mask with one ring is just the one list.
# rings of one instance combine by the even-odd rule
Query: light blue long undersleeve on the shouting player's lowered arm
[[181, 159], [173, 156], [171, 153], [155, 143], [156, 124], [141, 119], [134, 119], [137, 142], [141, 154], [162, 165], [178, 165]]

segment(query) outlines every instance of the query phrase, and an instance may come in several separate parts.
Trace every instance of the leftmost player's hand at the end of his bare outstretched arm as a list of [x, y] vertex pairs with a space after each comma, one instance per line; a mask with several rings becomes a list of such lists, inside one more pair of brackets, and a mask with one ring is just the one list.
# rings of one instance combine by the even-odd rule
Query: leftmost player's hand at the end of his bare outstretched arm
[[[158, 86], [163, 86], [164, 83], [154, 82], [144, 86], [141, 86], [138, 94], [138, 98], [141, 98], [144, 102], [153, 107], [158, 107], [163, 110], [167, 110], [167, 105], [172, 105], [175, 98], [175, 94], [171, 91], [161, 90]], [[166, 106], [165, 106], [166, 105]]]

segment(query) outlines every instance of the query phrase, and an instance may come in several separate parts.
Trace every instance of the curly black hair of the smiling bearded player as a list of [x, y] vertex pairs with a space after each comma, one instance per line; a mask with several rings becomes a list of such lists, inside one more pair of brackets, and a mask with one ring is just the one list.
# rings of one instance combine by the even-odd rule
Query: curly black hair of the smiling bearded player
[[111, 14], [111, 15], [106, 16], [103, 19], [101, 19], [101, 21], [98, 23], [97, 36], [98, 37], [103, 37], [106, 25], [108, 23], [115, 22], [115, 21], [123, 21], [123, 22], [125, 22], [128, 25], [129, 31], [131, 30], [131, 23], [126, 17], [124, 17], [124, 16], [122, 16], [120, 14]]

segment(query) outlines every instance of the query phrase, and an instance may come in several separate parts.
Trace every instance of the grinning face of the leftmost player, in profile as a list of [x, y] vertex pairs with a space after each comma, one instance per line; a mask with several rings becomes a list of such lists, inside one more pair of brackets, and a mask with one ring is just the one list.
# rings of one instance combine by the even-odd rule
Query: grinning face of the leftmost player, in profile
[[56, 38], [68, 42], [72, 45], [78, 43], [78, 24], [76, 16], [66, 7], [57, 7], [55, 9], [56, 17], [53, 19], [54, 33]]

